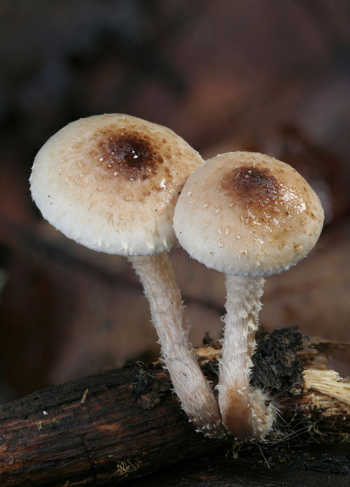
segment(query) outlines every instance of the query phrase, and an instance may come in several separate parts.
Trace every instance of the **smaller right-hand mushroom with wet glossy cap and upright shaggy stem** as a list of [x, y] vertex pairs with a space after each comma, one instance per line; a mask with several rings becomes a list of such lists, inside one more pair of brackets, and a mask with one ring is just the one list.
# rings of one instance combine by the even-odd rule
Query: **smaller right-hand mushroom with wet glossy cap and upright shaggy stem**
[[188, 178], [174, 230], [191, 257], [226, 275], [219, 378], [222, 423], [244, 441], [261, 440], [274, 421], [270, 396], [250, 388], [264, 276], [303, 259], [323, 224], [320, 201], [288, 164], [251, 152], [221, 154]]

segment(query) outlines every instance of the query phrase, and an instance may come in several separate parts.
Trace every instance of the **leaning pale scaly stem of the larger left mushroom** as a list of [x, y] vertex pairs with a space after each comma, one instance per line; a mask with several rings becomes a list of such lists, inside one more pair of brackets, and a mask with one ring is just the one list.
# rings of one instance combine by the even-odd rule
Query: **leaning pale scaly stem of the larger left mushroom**
[[162, 356], [184, 412], [205, 435], [223, 436], [219, 404], [189, 340], [184, 306], [167, 252], [128, 260], [144, 286]]

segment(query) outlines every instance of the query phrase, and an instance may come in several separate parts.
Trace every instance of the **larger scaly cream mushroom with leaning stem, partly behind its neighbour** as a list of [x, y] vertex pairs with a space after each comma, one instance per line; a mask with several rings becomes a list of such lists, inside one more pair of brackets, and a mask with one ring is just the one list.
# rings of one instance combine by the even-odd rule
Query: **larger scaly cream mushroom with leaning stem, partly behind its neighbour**
[[175, 203], [203, 162], [173, 131], [122, 114], [70, 123], [39, 150], [34, 201], [58, 230], [93, 250], [128, 257], [144, 286], [162, 355], [182, 408], [198, 430], [224, 430], [217, 398], [188, 336], [167, 252], [178, 245]]

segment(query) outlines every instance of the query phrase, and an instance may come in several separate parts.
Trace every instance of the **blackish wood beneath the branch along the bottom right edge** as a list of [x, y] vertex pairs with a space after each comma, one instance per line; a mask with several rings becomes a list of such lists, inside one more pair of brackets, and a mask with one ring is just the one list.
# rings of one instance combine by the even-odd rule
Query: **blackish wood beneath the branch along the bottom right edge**
[[350, 458], [332, 453], [249, 450], [239, 459], [213, 453], [163, 469], [128, 487], [348, 487]]

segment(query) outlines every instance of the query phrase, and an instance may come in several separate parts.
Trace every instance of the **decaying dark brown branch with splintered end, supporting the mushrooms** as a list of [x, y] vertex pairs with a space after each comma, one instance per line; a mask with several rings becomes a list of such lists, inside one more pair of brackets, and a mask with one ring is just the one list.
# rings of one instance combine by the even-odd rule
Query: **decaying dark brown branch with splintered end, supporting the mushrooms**
[[[251, 383], [269, 389], [278, 410], [267, 445], [350, 439], [350, 384], [316, 348], [285, 330], [259, 342]], [[197, 350], [213, 387], [220, 354], [214, 344]], [[0, 417], [1, 486], [112, 485], [221, 444], [188, 422], [160, 362], [37, 391], [4, 404]]]

